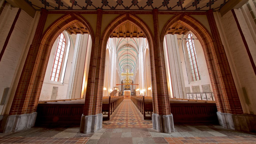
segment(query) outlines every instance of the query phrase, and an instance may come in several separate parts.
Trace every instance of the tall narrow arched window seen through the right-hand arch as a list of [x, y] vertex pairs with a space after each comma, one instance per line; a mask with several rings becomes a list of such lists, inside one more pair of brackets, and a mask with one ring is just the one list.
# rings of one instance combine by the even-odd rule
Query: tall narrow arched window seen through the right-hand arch
[[197, 57], [196, 57], [196, 49], [194, 45], [193, 36], [191, 33], [187, 34], [186, 37], [186, 47], [188, 52], [188, 60], [189, 60], [189, 66], [190, 66], [190, 72], [191, 72], [191, 81], [200, 80], [200, 74], [199, 74], [199, 67], [197, 63]]

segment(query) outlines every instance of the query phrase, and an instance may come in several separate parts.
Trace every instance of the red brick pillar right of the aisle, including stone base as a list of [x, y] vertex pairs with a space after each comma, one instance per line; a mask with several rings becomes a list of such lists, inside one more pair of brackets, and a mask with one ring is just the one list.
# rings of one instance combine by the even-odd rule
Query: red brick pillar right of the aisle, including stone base
[[[151, 56], [153, 57], [154, 65], [151, 77], [153, 87], [153, 103], [154, 114], [152, 115], [153, 128], [159, 132], [171, 133], [174, 132], [173, 117], [170, 112], [169, 96], [167, 91], [166, 75], [165, 75], [165, 62], [163, 43], [160, 41], [159, 23], [158, 23], [158, 10], [153, 10], [153, 24], [154, 24], [154, 45], [150, 49]], [[152, 65], [151, 65], [152, 66]]]

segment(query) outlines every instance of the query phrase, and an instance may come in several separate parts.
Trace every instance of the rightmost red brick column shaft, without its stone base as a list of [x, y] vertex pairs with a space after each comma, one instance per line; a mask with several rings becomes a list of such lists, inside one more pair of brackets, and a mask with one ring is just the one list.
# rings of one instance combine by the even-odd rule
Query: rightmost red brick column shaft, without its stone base
[[213, 91], [216, 91], [215, 94], [218, 97], [216, 99], [218, 111], [229, 114], [243, 114], [227, 55], [214, 19], [213, 10], [207, 11], [206, 15], [216, 47], [214, 49], [216, 54], [216, 61], [214, 61], [216, 72], [212, 74], [214, 75], [213, 78], [216, 86]]

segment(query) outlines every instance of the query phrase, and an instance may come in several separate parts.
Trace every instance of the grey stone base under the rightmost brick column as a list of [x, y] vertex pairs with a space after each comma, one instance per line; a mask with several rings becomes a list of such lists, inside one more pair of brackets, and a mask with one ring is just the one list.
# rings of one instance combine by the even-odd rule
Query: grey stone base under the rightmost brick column
[[238, 131], [256, 131], [256, 116], [250, 114], [234, 115], [217, 112], [219, 124]]

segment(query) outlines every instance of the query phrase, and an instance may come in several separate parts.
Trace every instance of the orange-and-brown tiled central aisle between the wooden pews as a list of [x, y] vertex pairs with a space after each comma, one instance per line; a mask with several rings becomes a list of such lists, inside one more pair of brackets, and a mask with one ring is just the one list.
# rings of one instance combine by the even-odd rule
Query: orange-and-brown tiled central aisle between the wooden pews
[[131, 99], [124, 99], [102, 128], [152, 128], [152, 120], [144, 120]]

